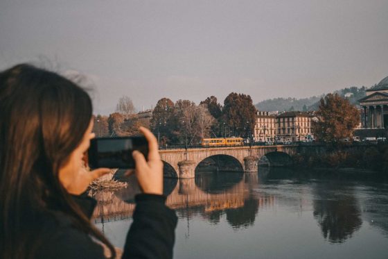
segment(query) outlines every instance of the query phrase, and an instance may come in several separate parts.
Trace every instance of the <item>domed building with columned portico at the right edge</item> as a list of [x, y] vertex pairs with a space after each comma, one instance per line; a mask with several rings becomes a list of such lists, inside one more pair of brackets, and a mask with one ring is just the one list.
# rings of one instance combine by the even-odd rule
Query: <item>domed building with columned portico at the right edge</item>
[[360, 99], [364, 109], [364, 128], [388, 128], [388, 76], [366, 90], [367, 96]]

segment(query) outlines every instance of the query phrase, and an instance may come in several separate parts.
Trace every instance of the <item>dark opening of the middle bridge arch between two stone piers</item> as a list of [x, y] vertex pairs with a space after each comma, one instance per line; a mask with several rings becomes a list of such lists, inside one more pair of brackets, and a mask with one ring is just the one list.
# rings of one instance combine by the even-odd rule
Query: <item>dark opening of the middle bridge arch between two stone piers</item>
[[243, 172], [244, 167], [241, 162], [229, 155], [217, 154], [208, 156], [197, 163], [195, 174], [200, 172]]

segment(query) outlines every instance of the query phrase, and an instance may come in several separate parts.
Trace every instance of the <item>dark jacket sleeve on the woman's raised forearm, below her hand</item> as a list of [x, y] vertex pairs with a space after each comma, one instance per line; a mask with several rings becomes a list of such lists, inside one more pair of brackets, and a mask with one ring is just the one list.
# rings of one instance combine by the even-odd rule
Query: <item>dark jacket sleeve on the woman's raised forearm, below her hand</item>
[[173, 258], [177, 216], [164, 203], [166, 197], [138, 194], [132, 225], [125, 241], [123, 258]]

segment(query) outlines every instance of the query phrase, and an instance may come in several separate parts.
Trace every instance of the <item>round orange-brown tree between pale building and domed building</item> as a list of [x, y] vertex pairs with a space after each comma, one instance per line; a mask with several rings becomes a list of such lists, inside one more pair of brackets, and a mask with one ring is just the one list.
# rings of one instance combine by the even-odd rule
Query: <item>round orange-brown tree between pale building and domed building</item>
[[343, 142], [353, 139], [354, 128], [360, 123], [360, 112], [339, 94], [327, 94], [319, 101], [317, 120], [312, 134], [319, 141]]

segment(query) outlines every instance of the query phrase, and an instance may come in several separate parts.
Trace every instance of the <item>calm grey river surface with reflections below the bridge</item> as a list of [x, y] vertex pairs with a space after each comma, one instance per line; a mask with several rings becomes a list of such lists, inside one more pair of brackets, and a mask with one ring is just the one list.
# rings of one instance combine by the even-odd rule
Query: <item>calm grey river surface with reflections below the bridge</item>
[[[166, 179], [179, 217], [175, 258], [388, 258], [388, 184], [300, 176], [201, 173]], [[96, 194], [95, 222], [123, 247], [132, 222], [133, 179]]]

